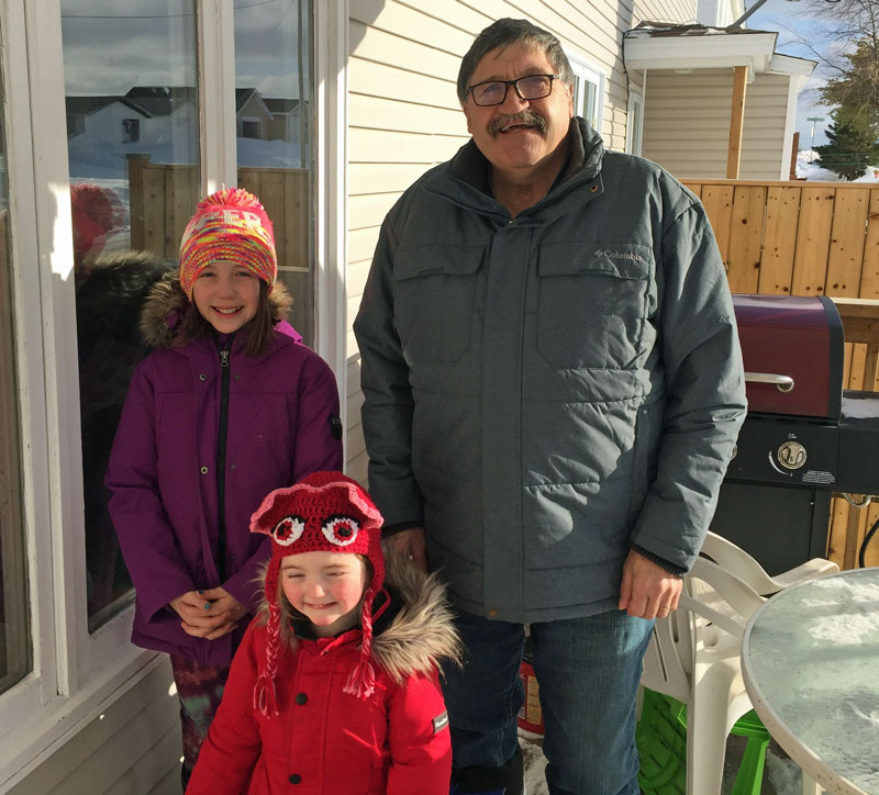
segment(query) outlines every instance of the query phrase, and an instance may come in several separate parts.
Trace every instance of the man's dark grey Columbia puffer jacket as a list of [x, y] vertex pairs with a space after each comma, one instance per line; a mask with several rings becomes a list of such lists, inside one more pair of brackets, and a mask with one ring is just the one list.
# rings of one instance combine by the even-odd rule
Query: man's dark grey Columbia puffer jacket
[[515, 220], [472, 141], [388, 213], [354, 329], [369, 489], [465, 611], [616, 606], [631, 547], [689, 569], [745, 415], [699, 200], [582, 121]]

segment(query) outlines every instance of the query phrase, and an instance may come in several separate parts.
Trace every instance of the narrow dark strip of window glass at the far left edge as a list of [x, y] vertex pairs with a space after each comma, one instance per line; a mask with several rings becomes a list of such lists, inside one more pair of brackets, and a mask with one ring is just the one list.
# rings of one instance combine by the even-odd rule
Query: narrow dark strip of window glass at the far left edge
[[[0, 75], [0, 91], [3, 89]], [[21, 505], [19, 401], [12, 324], [5, 103], [0, 97], [0, 693], [32, 665], [24, 523]]]

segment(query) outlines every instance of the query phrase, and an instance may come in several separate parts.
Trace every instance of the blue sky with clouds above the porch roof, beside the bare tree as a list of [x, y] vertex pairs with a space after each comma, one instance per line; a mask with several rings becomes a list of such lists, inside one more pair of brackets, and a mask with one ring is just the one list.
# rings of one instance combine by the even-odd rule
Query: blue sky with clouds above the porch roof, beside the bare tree
[[[753, 8], [755, 0], [746, 0], [746, 8]], [[777, 31], [778, 41], [776, 52], [782, 55], [792, 55], [800, 58], [816, 60], [814, 54], [804, 46], [800, 40], [810, 42], [815, 48], [821, 49], [821, 45], [814, 36], [814, 18], [810, 20], [804, 16], [804, 3], [798, 0], [766, 0], [766, 2], [754, 12], [747, 20], [747, 26], [752, 30]], [[814, 127], [815, 145], [826, 144], [827, 137], [824, 134], [827, 125], [833, 121], [831, 109], [821, 103], [817, 87], [824, 82], [824, 77], [820, 74], [820, 67], [815, 68], [809, 82], [800, 91], [797, 103], [797, 132], [800, 133], [800, 148], [808, 149], [812, 145], [812, 132]], [[823, 116], [823, 121], [809, 121], [810, 116]]]

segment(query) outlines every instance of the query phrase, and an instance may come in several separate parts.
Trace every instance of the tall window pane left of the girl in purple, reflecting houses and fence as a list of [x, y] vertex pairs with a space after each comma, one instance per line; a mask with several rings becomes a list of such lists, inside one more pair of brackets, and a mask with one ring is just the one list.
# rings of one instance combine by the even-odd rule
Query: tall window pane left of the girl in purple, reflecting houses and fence
[[103, 475], [140, 305], [199, 195], [194, 0], [62, 0], [89, 630], [131, 601]]

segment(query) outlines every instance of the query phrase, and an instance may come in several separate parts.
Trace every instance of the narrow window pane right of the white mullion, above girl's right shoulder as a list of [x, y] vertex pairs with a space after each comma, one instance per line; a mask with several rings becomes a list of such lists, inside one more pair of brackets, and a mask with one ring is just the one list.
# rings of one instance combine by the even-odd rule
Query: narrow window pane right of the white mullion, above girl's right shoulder
[[259, 122], [241, 125], [238, 186], [259, 197], [275, 225], [278, 278], [293, 296], [290, 321], [310, 345], [314, 341], [312, 14], [311, 0], [235, 7], [235, 87], [247, 97], [248, 108], [265, 108], [271, 115], [265, 135], [251, 133], [251, 125]]

